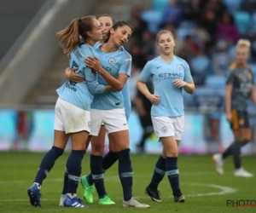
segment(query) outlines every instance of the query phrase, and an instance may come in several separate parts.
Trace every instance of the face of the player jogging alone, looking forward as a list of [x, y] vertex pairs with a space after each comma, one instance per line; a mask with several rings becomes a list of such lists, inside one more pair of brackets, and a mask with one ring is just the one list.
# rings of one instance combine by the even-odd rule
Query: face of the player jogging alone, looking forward
[[171, 32], [161, 33], [158, 36], [157, 43], [158, 43], [161, 54], [170, 55], [173, 53], [175, 42]]

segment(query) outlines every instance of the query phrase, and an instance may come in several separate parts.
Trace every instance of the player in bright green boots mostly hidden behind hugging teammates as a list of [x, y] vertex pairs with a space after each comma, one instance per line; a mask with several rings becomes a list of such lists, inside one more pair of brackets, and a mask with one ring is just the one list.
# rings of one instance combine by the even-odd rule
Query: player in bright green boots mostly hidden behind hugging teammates
[[[99, 22], [102, 26], [102, 40], [98, 43], [96, 43], [96, 47], [99, 46], [101, 43], [104, 43], [104, 39], [107, 37], [107, 34], [111, 27], [113, 26], [113, 18], [108, 14], [102, 14], [98, 18]], [[71, 80], [83, 80], [83, 77], [79, 77], [79, 75], [75, 74], [74, 72], [70, 71], [68, 68], [66, 70], [66, 77]], [[128, 89], [127, 82], [125, 83], [124, 88], [122, 89], [122, 95], [124, 99], [124, 107], [125, 107], [125, 116], [128, 120], [131, 112], [131, 101], [130, 101], [130, 94]], [[105, 144], [105, 135], [106, 135], [106, 128], [104, 127], [104, 124], [102, 124], [99, 135], [93, 136], [90, 140], [92, 150], [91, 150], [91, 161], [94, 161], [95, 158], [100, 158], [104, 154], [104, 144]], [[118, 160], [118, 154], [115, 152], [113, 141], [110, 137], [109, 139], [109, 152], [102, 158], [102, 169], [108, 170], [117, 160]], [[96, 156], [96, 157], [95, 157]], [[92, 163], [93, 164], [93, 163]], [[104, 171], [103, 171], [104, 172]], [[94, 186], [93, 186], [93, 178], [90, 174], [89, 176], [81, 176], [81, 184], [84, 187], [84, 199], [89, 203], [93, 203], [93, 196], [92, 193], [94, 192]], [[64, 192], [62, 192], [64, 193]], [[62, 195], [63, 197], [63, 195]], [[100, 204], [114, 204], [114, 202], [108, 198], [107, 195], [99, 195], [99, 203]], [[62, 199], [63, 200], [63, 199]], [[61, 204], [61, 202], [60, 202]]]

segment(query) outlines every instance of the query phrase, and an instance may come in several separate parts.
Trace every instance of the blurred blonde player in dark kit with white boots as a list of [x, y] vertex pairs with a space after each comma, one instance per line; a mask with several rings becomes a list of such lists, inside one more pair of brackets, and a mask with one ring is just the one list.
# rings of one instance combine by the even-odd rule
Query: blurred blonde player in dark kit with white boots
[[256, 105], [253, 71], [247, 65], [251, 43], [240, 39], [236, 43], [236, 62], [230, 66], [226, 81], [225, 110], [235, 141], [222, 154], [214, 154], [218, 174], [223, 175], [224, 159], [233, 156], [235, 176], [251, 177], [253, 174], [241, 167], [241, 147], [252, 139], [252, 131], [247, 112], [247, 102], [252, 99]]

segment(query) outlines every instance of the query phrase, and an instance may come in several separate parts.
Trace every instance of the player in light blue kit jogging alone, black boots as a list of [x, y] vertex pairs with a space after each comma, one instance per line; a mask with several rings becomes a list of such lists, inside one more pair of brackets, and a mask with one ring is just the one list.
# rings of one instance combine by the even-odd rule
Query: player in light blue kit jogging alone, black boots
[[[137, 81], [137, 88], [153, 103], [151, 117], [154, 132], [163, 145], [162, 155], [155, 165], [146, 193], [152, 200], [160, 202], [157, 187], [167, 173], [175, 202], [184, 202], [177, 169], [177, 147], [182, 139], [184, 124], [182, 90], [193, 94], [195, 84], [187, 62], [174, 55], [172, 32], [160, 31], [156, 41], [160, 56], [148, 61]], [[150, 78], [153, 80], [154, 94], [145, 85]]]

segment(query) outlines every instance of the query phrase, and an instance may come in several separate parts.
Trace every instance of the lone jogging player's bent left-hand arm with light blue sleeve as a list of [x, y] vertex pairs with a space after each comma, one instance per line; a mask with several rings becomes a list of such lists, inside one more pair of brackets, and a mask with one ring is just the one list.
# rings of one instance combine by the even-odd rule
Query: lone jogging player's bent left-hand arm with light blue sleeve
[[151, 78], [151, 72], [150, 72], [150, 64], [147, 63], [143, 71], [141, 72], [138, 80], [137, 80], [137, 89], [148, 98], [148, 100], [153, 104], [158, 104], [160, 102], [160, 96], [151, 94], [148, 90], [148, 87], [146, 85], [146, 82]]

